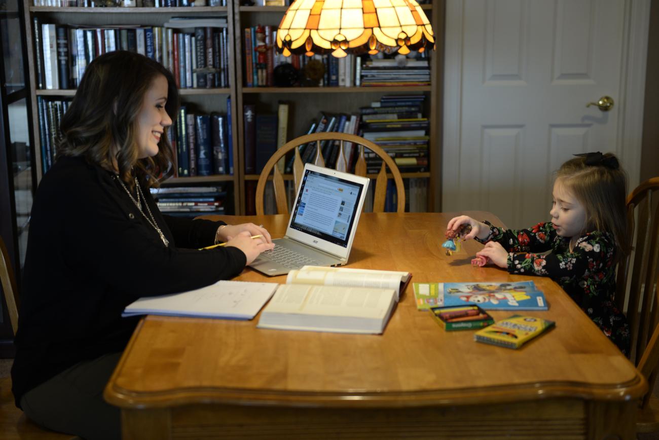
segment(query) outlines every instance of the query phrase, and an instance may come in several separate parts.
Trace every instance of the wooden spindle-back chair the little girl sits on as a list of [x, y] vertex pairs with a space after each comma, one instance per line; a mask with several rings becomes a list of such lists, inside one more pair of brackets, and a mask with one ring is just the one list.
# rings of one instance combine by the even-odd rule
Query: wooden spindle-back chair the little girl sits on
[[[648, 381], [649, 391], [641, 402], [637, 431], [659, 430], [659, 399], [652, 395], [659, 364], [659, 307], [656, 285], [659, 275], [659, 177], [646, 180], [627, 196], [631, 255], [618, 265], [616, 303], [627, 304], [631, 328], [630, 360]], [[629, 286], [629, 288], [627, 288]]]

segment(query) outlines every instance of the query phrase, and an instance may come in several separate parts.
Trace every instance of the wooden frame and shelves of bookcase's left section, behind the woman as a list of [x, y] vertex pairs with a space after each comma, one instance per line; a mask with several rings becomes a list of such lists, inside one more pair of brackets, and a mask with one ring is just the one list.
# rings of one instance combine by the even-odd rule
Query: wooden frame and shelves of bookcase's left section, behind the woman
[[[28, 70], [30, 78], [30, 102], [32, 113], [32, 132], [34, 133], [34, 157], [36, 165], [36, 176], [39, 181], [43, 175], [42, 166], [42, 145], [39, 136], [39, 119], [38, 119], [38, 97], [49, 97], [53, 99], [71, 99], [75, 90], [45, 90], [39, 89], [37, 84], [36, 72], [36, 52], [39, 48], [34, 43], [34, 18], [38, 18], [41, 23], [53, 23], [56, 25], [67, 25], [72, 27], [78, 26], [163, 26], [172, 17], [191, 17], [205, 18], [208, 15], [226, 16], [227, 17], [227, 48], [229, 50], [229, 87], [227, 88], [181, 88], [181, 103], [192, 106], [198, 113], [211, 113], [213, 111], [227, 114], [227, 97], [231, 97], [231, 114], [235, 115], [235, 70], [231, 69], [233, 56], [233, 4], [230, 2], [227, 6], [217, 7], [43, 7], [33, 6], [32, 1], [24, 1], [24, 20], [26, 25], [26, 44], [28, 46]], [[236, 132], [237, 123], [232, 118], [231, 130]], [[234, 157], [239, 157], [237, 151], [237, 142], [229, 146], [233, 150]], [[225, 184], [231, 197], [230, 206], [225, 206], [226, 213], [240, 213], [239, 211], [239, 173], [233, 175], [210, 175], [204, 177], [175, 177], [162, 183], [163, 187], [167, 186], [185, 186], [188, 184]]]

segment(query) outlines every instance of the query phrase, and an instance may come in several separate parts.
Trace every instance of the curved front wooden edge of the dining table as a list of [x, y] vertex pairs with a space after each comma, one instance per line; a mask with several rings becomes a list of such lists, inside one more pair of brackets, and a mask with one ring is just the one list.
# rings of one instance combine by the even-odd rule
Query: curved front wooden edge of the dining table
[[306, 406], [319, 408], [387, 408], [415, 406], [449, 406], [484, 403], [503, 403], [540, 399], [585, 399], [625, 402], [640, 399], [648, 389], [645, 377], [636, 370], [635, 376], [617, 385], [589, 385], [579, 382], [552, 381], [523, 383], [506, 387], [468, 387], [447, 391], [423, 390], [410, 392], [341, 393], [310, 391], [264, 391], [212, 387], [188, 387], [155, 392], [135, 392], [116, 385], [137, 335], [144, 324], [140, 319], [113, 371], [103, 397], [124, 409], [164, 408], [186, 404], [242, 404], [252, 406]]

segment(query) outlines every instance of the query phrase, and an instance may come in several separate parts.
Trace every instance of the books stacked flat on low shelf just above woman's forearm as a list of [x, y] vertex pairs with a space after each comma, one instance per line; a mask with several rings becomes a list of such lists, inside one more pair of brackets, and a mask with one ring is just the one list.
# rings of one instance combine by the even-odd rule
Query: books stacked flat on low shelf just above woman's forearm
[[179, 217], [221, 215], [227, 205], [227, 191], [223, 186], [151, 188], [151, 194], [162, 213]]

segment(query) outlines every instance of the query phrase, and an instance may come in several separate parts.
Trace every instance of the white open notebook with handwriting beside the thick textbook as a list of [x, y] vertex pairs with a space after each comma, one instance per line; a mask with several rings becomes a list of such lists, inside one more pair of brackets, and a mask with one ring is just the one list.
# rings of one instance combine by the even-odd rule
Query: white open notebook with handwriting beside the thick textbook
[[122, 316], [167, 315], [252, 319], [277, 289], [275, 283], [218, 281], [201, 289], [140, 298]]

